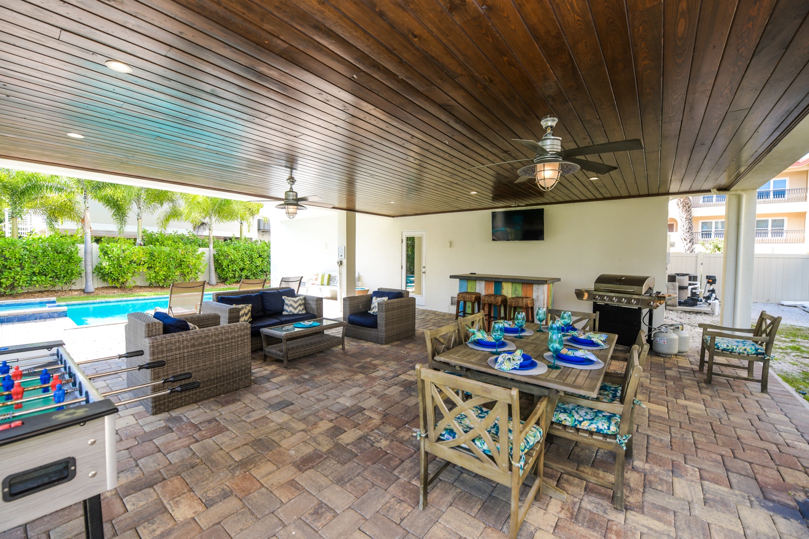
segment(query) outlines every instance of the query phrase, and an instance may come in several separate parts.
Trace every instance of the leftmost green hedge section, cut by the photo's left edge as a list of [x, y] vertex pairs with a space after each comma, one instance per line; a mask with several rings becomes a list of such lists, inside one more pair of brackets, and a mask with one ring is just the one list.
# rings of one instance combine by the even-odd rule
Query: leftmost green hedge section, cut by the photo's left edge
[[0, 293], [69, 287], [82, 276], [81, 243], [70, 234], [0, 238]]

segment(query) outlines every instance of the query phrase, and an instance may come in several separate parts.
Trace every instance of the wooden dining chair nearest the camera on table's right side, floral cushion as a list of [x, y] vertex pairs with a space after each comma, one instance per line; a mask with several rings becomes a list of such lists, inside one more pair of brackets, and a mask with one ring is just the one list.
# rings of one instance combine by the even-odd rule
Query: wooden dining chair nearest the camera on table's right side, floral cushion
[[[644, 343], [646, 353], [649, 345]], [[562, 395], [548, 430], [550, 436], [573, 440], [577, 444], [591, 445], [615, 453], [615, 470], [612, 481], [602, 474], [588, 474], [589, 466], [569, 467], [549, 462], [548, 467], [574, 478], [593, 482], [612, 489], [612, 503], [619, 511], [624, 510], [624, 466], [626, 457], [632, 458], [632, 436], [635, 422], [635, 397], [641, 379], [640, 354], [645, 353], [633, 346], [629, 351], [621, 393], [610, 399], [601, 394], [595, 398], [582, 398], [571, 394]], [[603, 399], [603, 400], [602, 400]], [[606, 402], [609, 400], [610, 402]], [[638, 401], [639, 402], [639, 401]]]

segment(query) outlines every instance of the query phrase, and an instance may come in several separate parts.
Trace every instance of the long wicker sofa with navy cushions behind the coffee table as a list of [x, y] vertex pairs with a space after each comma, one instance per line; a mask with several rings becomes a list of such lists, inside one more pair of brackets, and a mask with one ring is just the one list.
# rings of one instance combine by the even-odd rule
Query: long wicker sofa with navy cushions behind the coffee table
[[[305, 298], [303, 300], [303, 307], [304, 309], [306, 309], [307, 316], [296, 317], [294, 315], [285, 315], [277, 313], [277, 314], [261, 314], [260, 316], [254, 317], [252, 322], [250, 322], [250, 349], [252, 352], [256, 352], [256, 350], [261, 350], [263, 348], [260, 332], [260, 329], [262, 327], [280, 326], [282, 324], [287, 324], [290, 322], [299, 322], [300, 320], [323, 317], [322, 297], [296, 294], [294, 293], [292, 288], [288, 287], [256, 288], [252, 290], [227, 290], [226, 292], [214, 292], [211, 294], [211, 301], [202, 302], [200, 310], [202, 314], [215, 314], [216, 316], [218, 316], [219, 324], [222, 326], [225, 326], [227, 324], [233, 324], [235, 322], [239, 322], [239, 309], [237, 307], [234, 307], [233, 305], [220, 303], [219, 302], [220, 297], [245, 296], [248, 294], [252, 295], [272, 291], [276, 292], [287, 291], [288, 295], [294, 297], [303, 296]], [[270, 318], [272, 318], [273, 320], [270, 321], [269, 320]]]

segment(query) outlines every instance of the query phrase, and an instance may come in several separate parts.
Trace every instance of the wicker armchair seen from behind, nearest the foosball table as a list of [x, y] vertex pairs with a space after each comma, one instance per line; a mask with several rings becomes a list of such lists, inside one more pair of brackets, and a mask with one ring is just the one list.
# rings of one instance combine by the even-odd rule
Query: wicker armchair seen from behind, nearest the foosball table
[[[126, 373], [127, 385], [146, 384], [179, 373], [193, 373], [191, 380], [200, 382], [197, 390], [141, 401], [150, 414], [162, 414], [252, 383], [248, 343], [250, 326], [247, 323], [220, 326], [215, 314], [182, 318], [200, 329], [163, 335], [163, 322], [150, 314], [127, 315], [126, 351], [142, 350], [143, 356], [127, 359], [126, 366], [135, 367], [147, 361], [166, 362], [165, 367]], [[164, 389], [163, 385], [155, 385], [152, 390], [146, 388], [133, 393], [142, 396]]]

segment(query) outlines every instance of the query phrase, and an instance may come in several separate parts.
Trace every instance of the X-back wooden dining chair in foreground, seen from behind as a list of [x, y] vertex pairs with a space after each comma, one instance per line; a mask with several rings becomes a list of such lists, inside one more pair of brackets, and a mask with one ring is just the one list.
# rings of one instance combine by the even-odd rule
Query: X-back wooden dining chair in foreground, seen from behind
[[[528, 509], [542, 494], [544, 437], [548, 432], [548, 398], [533, 406], [519, 421], [519, 390], [452, 376], [416, 365], [419, 408], [419, 508], [427, 507], [427, 487], [450, 464], [508, 486], [509, 537], [516, 539]], [[466, 400], [459, 394], [468, 393]], [[484, 406], [485, 405], [485, 406]], [[509, 417], [509, 408], [517, 421]], [[528, 413], [528, 411], [526, 411]], [[508, 440], [498, 436], [508, 433]], [[502, 443], [501, 443], [502, 442]], [[444, 463], [430, 477], [427, 454]], [[519, 506], [519, 491], [531, 477], [533, 484]]]

